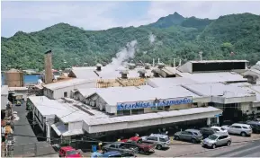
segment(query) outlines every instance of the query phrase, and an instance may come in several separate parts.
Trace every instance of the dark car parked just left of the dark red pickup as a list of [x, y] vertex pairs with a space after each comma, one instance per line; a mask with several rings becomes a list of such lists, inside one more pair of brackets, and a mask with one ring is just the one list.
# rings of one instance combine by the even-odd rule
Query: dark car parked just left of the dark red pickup
[[119, 151], [123, 153], [137, 154], [139, 153], [139, 145], [126, 144], [123, 142], [115, 142], [112, 144], [103, 145], [102, 150], [105, 153], [109, 151]]

